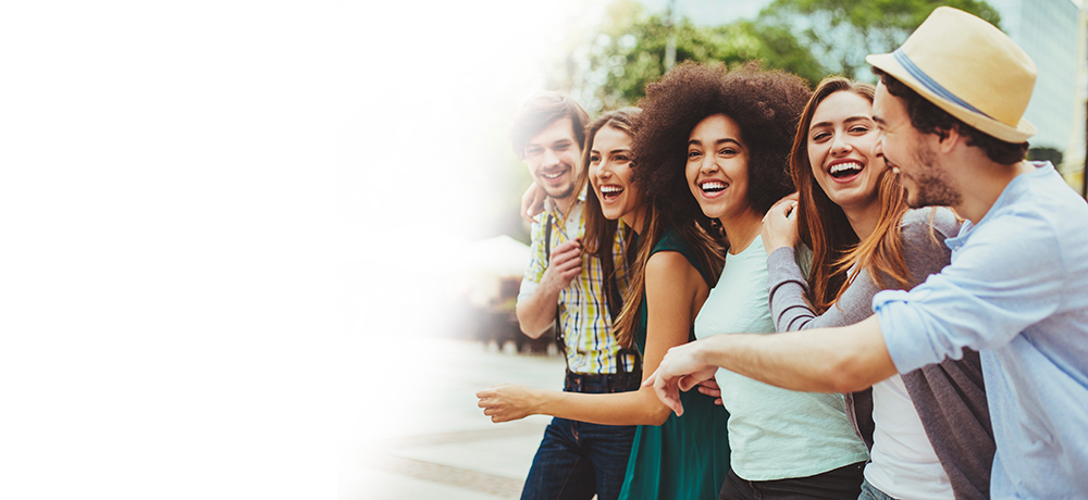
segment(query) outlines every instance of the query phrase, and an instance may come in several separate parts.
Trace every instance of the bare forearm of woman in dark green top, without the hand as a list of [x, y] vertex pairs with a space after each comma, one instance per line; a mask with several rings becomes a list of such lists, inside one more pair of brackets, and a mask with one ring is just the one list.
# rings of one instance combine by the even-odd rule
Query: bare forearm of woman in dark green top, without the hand
[[652, 387], [606, 395], [542, 391], [534, 413], [604, 425], [662, 425], [669, 417]]

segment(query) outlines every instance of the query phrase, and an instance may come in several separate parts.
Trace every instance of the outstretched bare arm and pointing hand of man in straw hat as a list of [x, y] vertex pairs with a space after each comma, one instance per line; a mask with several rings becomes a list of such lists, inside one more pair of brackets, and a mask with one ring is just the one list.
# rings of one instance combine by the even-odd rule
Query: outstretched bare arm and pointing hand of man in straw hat
[[895, 374], [876, 316], [839, 328], [756, 335], [715, 335], [669, 349], [643, 383], [677, 414], [679, 390], [718, 367], [790, 390], [853, 392]]

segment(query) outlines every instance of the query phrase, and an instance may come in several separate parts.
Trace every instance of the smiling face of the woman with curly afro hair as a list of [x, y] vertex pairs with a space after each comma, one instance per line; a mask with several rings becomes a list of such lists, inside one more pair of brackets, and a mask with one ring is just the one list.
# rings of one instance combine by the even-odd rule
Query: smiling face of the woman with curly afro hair
[[751, 211], [747, 200], [749, 150], [732, 118], [703, 118], [688, 136], [688, 187], [703, 214], [729, 218]]

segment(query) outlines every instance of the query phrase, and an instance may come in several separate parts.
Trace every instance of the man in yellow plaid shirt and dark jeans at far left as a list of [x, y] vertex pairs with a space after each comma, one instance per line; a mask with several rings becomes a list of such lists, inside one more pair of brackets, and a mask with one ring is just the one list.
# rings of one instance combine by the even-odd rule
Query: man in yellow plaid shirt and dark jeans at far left
[[[556, 324], [567, 358], [564, 390], [635, 390], [641, 382], [638, 361], [620, 355], [611, 333], [609, 305], [618, 312], [620, 304], [606, 299], [601, 261], [582, 254], [585, 191], [578, 192], [577, 179], [588, 122], [585, 111], [569, 97], [541, 92], [526, 102], [511, 126], [515, 152], [547, 195], [544, 213], [532, 225], [532, 261], [518, 295], [518, 322], [533, 338]], [[613, 254], [620, 291], [626, 288], [621, 249], [617, 237]], [[634, 429], [553, 418], [521, 498], [616, 498]]]

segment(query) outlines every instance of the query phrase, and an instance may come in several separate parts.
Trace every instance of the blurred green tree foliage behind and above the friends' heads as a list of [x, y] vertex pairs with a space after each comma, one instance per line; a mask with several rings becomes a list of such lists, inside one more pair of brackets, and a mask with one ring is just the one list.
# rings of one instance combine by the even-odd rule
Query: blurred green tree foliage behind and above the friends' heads
[[[932, 10], [951, 5], [994, 25], [997, 10], [979, 0], [776, 0], [753, 20], [721, 26], [673, 23], [676, 62], [761, 60], [765, 68], [795, 73], [814, 87], [830, 74], [874, 80], [865, 57], [899, 47]], [[665, 73], [669, 34], [665, 13], [648, 14], [634, 0], [615, 0], [596, 24], [572, 16], [544, 67], [547, 88], [565, 91], [591, 114], [634, 105], [646, 84]]]

